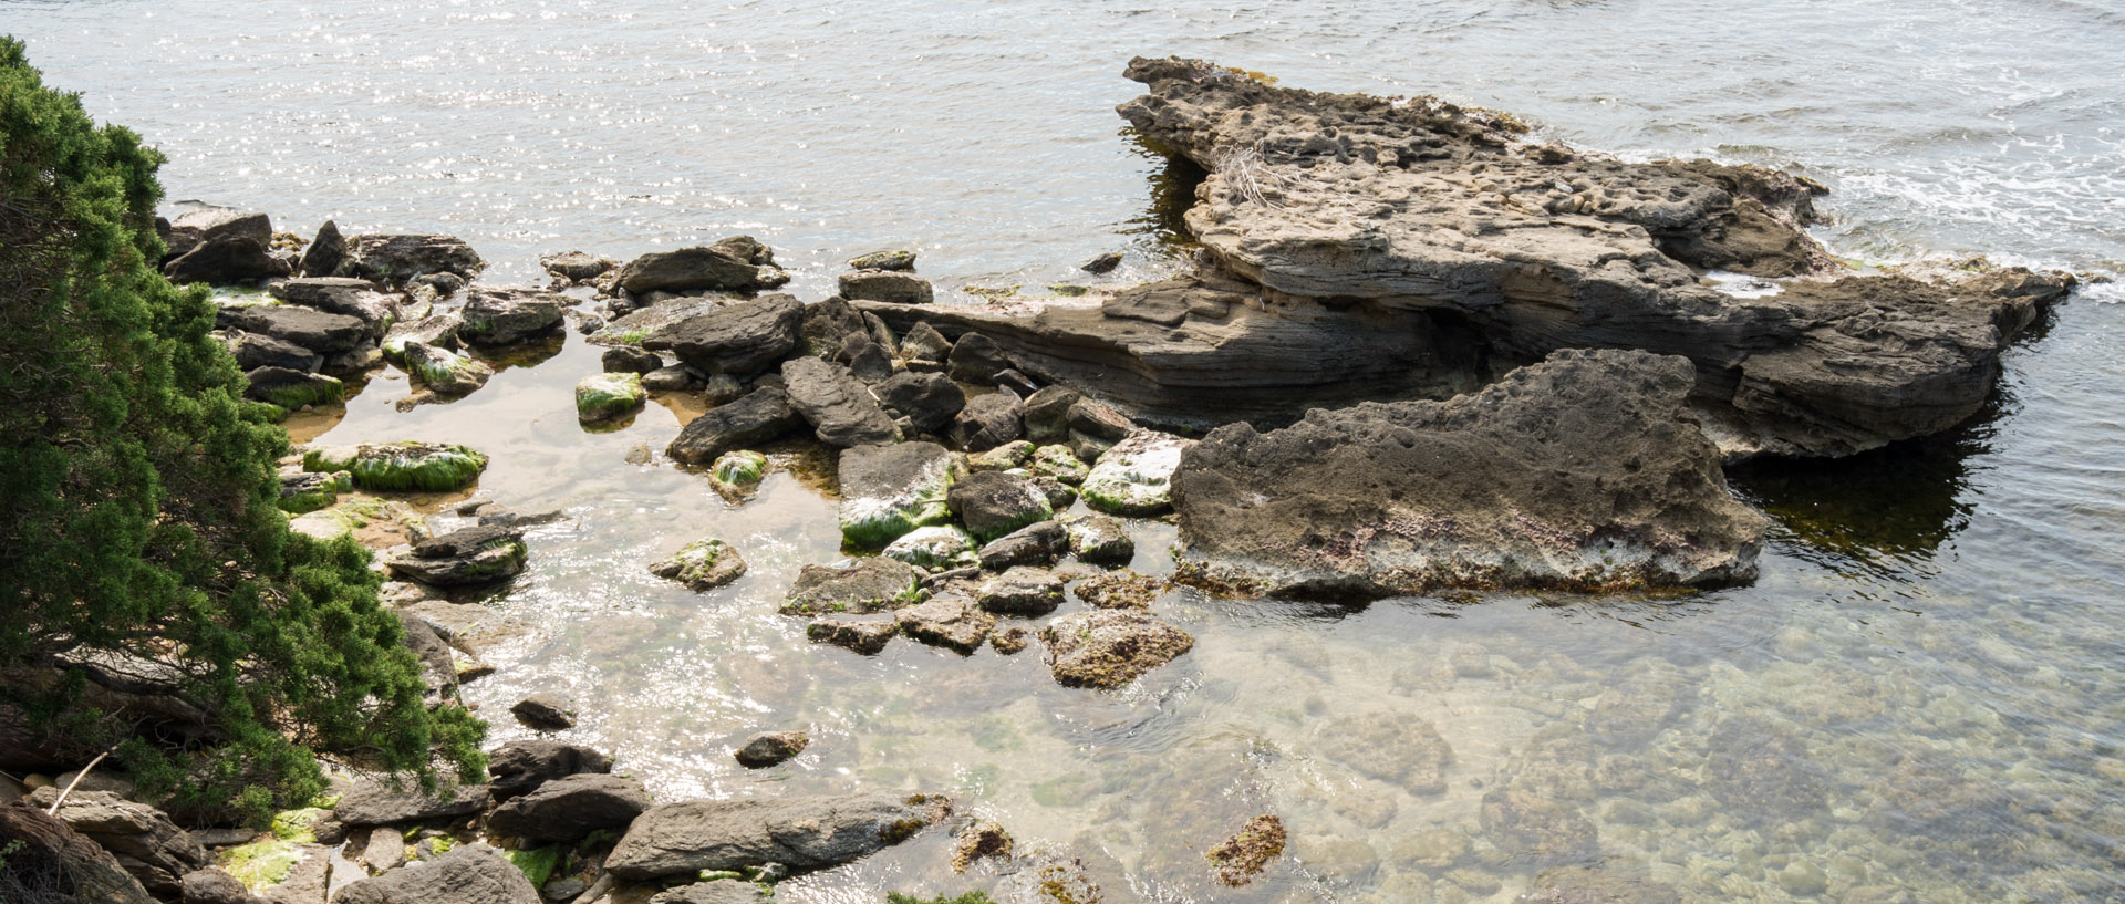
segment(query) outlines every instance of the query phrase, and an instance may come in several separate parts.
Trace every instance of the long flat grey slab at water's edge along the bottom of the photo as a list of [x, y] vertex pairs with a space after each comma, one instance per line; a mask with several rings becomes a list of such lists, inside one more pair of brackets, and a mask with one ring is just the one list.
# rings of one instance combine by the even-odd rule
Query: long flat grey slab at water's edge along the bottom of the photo
[[659, 804], [614, 845], [606, 870], [631, 883], [761, 864], [822, 870], [912, 838], [944, 806], [890, 794]]

